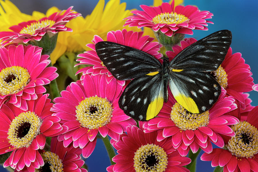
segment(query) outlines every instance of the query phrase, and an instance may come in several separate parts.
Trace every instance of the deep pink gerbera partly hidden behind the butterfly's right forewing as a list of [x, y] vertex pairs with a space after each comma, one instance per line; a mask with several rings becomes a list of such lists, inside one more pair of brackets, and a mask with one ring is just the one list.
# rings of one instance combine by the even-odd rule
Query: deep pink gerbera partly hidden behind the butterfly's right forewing
[[[167, 51], [166, 54], [172, 60], [181, 50], [193, 44], [197, 40], [194, 38], [186, 38], [181, 41], [181, 46], [175, 45], [172, 47], [173, 51]], [[220, 86], [226, 89], [227, 96], [233, 96], [240, 102], [242, 109], [245, 109], [245, 99], [242, 96], [243, 92], [252, 91], [253, 78], [250, 71], [250, 66], [245, 63], [241, 53], [237, 52], [232, 54], [232, 48], [228, 49], [225, 60], [213, 71], [211, 75], [218, 81]]]

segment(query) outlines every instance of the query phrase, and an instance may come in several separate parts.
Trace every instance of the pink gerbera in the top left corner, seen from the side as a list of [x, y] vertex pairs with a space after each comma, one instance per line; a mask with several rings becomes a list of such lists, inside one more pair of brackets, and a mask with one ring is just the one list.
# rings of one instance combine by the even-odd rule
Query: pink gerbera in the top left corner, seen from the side
[[13, 30], [13, 32], [0, 32], [2, 46], [11, 42], [27, 44], [29, 41], [40, 41], [45, 34], [52, 37], [61, 31], [72, 32], [72, 29], [64, 25], [71, 19], [81, 15], [80, 13], [71, 11], [72, 8], [73, 7], [69, 7], [67, 10], [61, 11], [60, 13], [53, 13], [49, 17], [44, 17], [38, 21], [31, 20], [11, 26], [9, 29]]

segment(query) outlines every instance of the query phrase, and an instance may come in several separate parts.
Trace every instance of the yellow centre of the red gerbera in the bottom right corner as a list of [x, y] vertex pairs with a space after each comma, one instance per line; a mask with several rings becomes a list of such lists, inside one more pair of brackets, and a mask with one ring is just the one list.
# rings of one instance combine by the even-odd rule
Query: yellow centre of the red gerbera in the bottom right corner
[[255, 126], [241, 121], [231, 128], [236, 135], [231, 137], [226, 147], [232, 155], [251, 158], [258, 153], [258, 131]]

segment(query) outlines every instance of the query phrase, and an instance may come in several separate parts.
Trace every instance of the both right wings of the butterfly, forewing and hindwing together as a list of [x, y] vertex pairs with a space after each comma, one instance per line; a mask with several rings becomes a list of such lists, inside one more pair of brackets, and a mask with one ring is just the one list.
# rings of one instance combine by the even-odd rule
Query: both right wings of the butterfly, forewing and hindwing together
[[232, 39], [229, 30], [214, 32], [191, 44], [169, 62], [169, 88], [175, 99], [191, 113], [209, 110], [221, 87], [203, 71], [214, 71], [224, 60]]

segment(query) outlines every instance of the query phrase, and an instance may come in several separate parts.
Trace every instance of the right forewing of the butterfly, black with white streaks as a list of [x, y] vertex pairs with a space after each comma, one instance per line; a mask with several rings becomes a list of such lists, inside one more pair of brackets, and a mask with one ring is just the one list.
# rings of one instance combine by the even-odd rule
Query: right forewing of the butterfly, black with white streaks
[[179, 52], [169, 66], [177, 70], [215, 71], [225, 59], [231, 39], [229, 30], [214, 32]]

